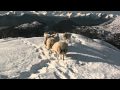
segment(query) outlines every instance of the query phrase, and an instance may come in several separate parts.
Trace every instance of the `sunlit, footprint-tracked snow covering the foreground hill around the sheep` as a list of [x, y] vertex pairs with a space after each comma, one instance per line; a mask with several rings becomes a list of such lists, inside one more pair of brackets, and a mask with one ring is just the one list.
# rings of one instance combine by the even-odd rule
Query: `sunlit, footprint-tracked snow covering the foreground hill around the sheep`
[[104, 41], [72, 34], [64, 61], [49, 54], [42, 42], [43, 37], [0, 39], [0, 78], [120, 78], [120, 50]]

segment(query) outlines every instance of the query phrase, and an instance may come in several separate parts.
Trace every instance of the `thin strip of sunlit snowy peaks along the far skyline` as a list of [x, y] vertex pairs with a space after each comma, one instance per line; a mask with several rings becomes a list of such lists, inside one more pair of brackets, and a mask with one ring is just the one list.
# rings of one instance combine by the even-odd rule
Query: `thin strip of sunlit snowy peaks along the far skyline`
[[93, 18], [113, 18], [115, 15], [113, 14], [105, 14], [105, 13], [82, 13], [82, 11], [8, 11], [3, 14], [0, 14], [0, 16], [4, 15], [17, 15], [22, 16], [24, 14], [34, 14], [34, 15], [45, 15], [45, 16], [60, 16], [60, 17], [78, 17], [78, 16], [84, 16], [84, 17], [93, 17]]

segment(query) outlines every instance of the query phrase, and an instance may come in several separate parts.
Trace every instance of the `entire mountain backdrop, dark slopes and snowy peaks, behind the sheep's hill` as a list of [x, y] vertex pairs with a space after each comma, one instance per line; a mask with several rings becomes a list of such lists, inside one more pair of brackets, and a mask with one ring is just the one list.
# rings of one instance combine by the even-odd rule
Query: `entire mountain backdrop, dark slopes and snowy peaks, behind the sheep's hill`
[[[89, 38], [106, 40], [109, 39], [109, 34], [111, 35], [111, 26], [116, 27], [112, 23], [118, 19], [114, 14], [80, 11], [9, 11], [0, 16], [0, 38], [37, 37], [43, 36], [45, 31], [56, 31], [79, 33]], [[42, 25], [34, 25], [34, 21]], [[118, 23], [115, 25], [119, 26]], [[117, 46], [113, 40], [115, 39], [106, 41]]]

